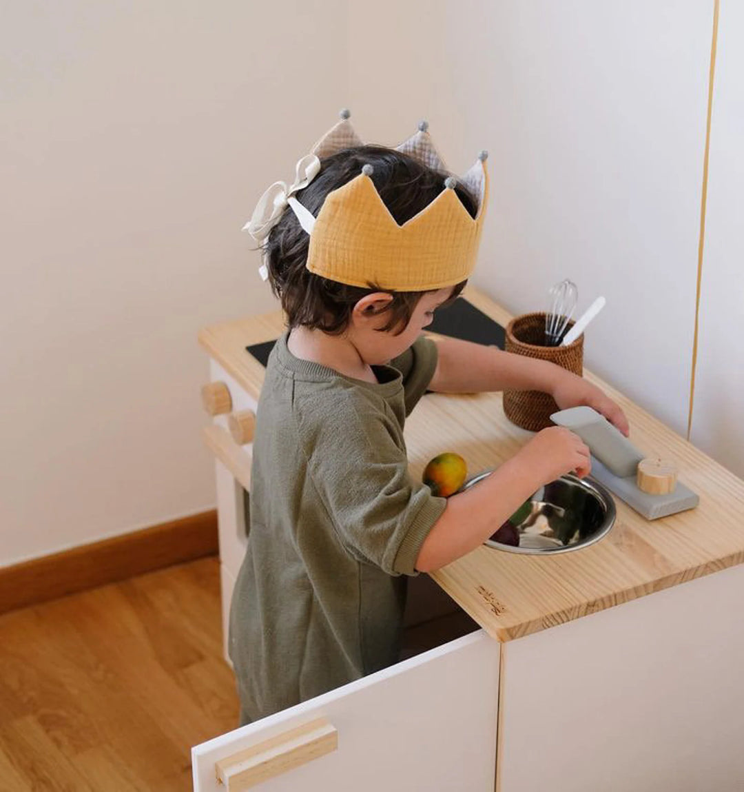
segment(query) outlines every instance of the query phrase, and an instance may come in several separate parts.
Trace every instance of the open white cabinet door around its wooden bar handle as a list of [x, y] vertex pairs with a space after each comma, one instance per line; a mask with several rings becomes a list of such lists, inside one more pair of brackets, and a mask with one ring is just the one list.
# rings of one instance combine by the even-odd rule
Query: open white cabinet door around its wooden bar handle
[[324, 718], [336, 750], [260, 792], [492, 792], [499, 643], [484, 630], [192, 748], [196, 792], [225, 792], [215, 763]]

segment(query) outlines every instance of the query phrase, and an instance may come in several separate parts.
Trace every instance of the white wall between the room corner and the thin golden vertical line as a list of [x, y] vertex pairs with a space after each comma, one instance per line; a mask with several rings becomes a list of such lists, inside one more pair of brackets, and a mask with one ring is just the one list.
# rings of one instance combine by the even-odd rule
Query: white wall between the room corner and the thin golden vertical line
[[[427, 3], [351, 12], [356, 115], [428, 115], [448, 164], [490, 150], [473, 282], [514, 313], [570, 277], [604, 294], [586, 366], [686, 432], [712, 0]], [[356, 14], [356, 17], [355, 17]], [[384, 57], [370, 70], [378, 47]], [[377, 111], [385, 106], [385, 113]], [[374, 109], [374, 110], [373, 110]], [[651, 452], [652, 449], [647, 449]]]

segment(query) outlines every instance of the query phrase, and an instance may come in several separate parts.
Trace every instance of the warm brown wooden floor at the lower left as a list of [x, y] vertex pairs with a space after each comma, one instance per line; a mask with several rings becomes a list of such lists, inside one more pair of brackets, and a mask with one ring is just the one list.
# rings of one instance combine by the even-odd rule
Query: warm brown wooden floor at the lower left
[[0, 790], [191, 790], [237, 726], [217, 558], [0, 616]]

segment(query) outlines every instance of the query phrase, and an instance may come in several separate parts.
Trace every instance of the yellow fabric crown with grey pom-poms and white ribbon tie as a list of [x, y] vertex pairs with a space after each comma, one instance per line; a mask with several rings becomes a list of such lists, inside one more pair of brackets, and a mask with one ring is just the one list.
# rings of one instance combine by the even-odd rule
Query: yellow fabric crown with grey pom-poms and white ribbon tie
[[[397, 146], [424, 166], [445, 171], [422, 121], [419, 131]], [[382, 202], [372, 179], [372, 166], [328, 193], [317, 218], [294, 198], [320, 170], [320, 158], [349, 147], [362, 146], [349, 121], [341, 120], [298, 162], [292, 187], [276, 182], [264, 193], [246, 228], [256, 239], [268, 236], [287, 205], [310, 235], [307, 268], [328, 280], [351, 286], [374, 284], [389, 291], [427, 291], [454, 286], [468, 278], [476, 264], [480, 233], [488, 203], [486, 152], [482, 151], [461, 184], [476, 200], [476, 217], [454, 191], [457, 180], [448, 177], [446, 188], [417, 215], [398, 225]]]

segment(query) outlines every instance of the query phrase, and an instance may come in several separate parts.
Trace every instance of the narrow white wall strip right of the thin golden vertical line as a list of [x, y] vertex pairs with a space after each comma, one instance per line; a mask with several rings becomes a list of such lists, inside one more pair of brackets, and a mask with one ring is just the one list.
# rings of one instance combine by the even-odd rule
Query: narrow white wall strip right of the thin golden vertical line
[[720, 7], [690, 439], [744, 476], [744, 6]]

